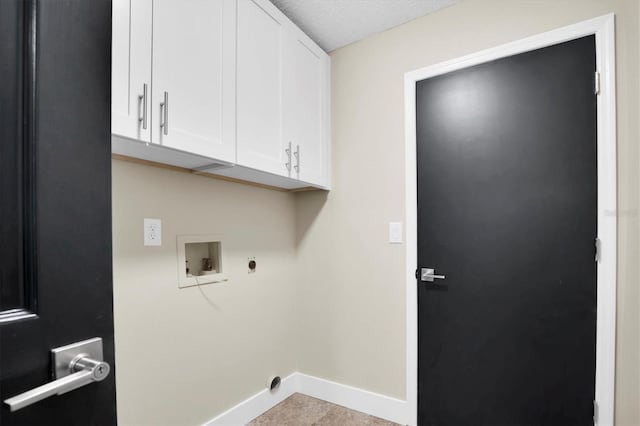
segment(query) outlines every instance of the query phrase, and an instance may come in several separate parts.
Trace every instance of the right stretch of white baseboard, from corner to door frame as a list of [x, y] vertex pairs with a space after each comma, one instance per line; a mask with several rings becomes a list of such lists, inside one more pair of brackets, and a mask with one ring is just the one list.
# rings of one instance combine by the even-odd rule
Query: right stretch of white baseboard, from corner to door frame
[[300, 393], [395, 423], [409, 424], [406, 401], [302, 373], [297, 375]]

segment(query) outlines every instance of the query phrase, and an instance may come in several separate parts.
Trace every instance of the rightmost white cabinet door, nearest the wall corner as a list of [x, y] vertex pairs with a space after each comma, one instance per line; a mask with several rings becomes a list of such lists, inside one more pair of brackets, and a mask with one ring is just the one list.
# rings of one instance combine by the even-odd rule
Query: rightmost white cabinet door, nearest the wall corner
[[285, 137], [293, 145], [293, 177], [328, 184], [328, 57], [305, 37], [287, 37]]

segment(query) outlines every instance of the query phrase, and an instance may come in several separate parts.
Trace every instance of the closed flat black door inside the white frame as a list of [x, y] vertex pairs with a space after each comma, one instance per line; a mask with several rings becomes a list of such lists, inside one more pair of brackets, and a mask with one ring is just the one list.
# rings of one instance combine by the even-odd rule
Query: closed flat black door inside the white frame
[[593, 424], [595, 38], [417, 83], [421, 425]]

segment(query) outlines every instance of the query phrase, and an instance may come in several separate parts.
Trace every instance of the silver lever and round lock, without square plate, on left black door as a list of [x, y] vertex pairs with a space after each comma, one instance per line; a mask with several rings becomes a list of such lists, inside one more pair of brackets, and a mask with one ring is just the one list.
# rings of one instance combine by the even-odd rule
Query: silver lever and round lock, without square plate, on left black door
[[[100, 341], [102, 346], [102, 341]], [[102, 348], [100, 348], [102, 352]], [[102, 356], [100, 356], [102, 358]], [[68, 375], [28, 390], [20, 395], [5, 399], [10, 411], [17, 411], [53, 395], [61, 395], [93, 382], [107, 378], [111, 367], [104, 361], [89, 358], [86, 353], [78, 354], [68, 363]]]

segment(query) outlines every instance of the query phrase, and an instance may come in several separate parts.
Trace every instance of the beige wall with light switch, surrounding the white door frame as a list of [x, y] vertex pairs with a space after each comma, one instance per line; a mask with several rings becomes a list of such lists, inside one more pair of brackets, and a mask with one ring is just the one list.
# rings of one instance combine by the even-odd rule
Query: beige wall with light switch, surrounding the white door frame
[[640, 424], [637, 0], [467, 0], [332, 54], [333, 191], [300, 194], [300, 370], [405, 397], [405, 72], [614, 12], [619, 280], [616, 419]]

